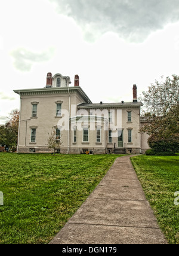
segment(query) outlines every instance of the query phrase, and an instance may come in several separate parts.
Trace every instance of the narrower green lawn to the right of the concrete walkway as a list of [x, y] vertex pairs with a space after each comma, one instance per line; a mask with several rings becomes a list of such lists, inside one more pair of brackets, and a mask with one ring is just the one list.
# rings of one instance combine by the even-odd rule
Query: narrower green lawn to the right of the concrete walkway
[[179, 244], [179, 205], [174, 204], [174, 193], [179, 191], [179, 156], [137, 156], [131, 160], [166, 239]]

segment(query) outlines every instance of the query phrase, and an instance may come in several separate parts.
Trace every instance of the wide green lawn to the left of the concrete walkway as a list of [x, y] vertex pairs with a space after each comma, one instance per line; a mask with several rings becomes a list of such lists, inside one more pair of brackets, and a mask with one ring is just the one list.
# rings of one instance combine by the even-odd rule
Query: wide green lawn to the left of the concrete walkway
[[0, 153], [0, 243], [50, 242], [117, 157]]

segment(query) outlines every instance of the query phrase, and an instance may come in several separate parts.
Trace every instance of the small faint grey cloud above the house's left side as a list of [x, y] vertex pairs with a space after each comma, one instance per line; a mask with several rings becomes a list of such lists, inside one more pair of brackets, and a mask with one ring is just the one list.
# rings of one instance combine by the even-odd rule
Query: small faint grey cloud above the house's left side
[[14, 58], [14, 66], [20, 71], [30, 71], [35, 63], [47, 62], [54, 56], [55, 49], [48, 48], [41, 53], [27, 50], [26, 48], [17, 48], [11, 51]]

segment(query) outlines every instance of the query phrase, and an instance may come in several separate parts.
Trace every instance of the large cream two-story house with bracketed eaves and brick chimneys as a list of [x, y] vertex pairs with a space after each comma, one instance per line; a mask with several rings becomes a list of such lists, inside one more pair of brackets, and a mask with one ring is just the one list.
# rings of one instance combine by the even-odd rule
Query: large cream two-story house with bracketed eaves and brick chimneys
[[92, 103], [69, 77], [47, 74], [44, 88], [14, 90], [20, 95], [20, 123], [18, 153], [51, 153], [47, 146], [49, 135], [55, 130], [61, 136], [62, 154], [144, 153], [147, 135], [139, 133], [143, 121], [137, 100], [137, 86], [133, 86], [132, 102]]

